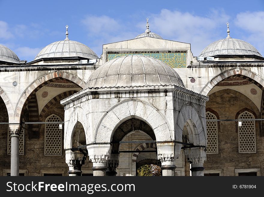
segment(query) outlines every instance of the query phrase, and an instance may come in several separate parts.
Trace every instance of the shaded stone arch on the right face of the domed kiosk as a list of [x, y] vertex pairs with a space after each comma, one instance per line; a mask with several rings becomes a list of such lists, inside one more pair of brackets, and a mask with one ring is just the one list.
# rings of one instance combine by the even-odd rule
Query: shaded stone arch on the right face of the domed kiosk
[[[190, 143], [206, 146], [206, 119], [200, 117], [192, 105], [184, 105], [180, 109], [176, 123], [176, 141], [182, 141], [182, 134], [187, 132]], [[184, 126], [189, 129], [184, 131]]]

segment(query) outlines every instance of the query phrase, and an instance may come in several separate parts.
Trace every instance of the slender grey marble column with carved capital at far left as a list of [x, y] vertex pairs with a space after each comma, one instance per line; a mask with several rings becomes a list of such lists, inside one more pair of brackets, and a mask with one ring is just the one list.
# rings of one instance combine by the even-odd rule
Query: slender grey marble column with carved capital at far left
[[9, 125], [11, 133], [11, 176], [19, 176], [19, 135], [20, 125]]

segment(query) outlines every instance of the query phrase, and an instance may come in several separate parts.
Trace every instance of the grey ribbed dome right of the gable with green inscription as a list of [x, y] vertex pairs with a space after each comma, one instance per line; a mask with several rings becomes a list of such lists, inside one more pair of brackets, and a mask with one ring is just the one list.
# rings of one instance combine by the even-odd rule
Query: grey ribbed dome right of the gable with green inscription
[[212, 57], [217, 55], [256, 55], [262, 57], [258, 50], [251, 44], [230, 37], [209, 44], [199, 57]]

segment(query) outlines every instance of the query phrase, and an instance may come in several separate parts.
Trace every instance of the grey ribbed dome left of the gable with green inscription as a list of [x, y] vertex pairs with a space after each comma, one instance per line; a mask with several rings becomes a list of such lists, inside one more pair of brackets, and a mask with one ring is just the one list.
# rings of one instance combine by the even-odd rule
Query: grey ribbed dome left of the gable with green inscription
[[64, 58], [64, 57], [83, 57], [87, 59], [98, 59], [98, 56], [86, 45], [72, 41], [63, 40], [53, 42], [44, 47], [34, 60], [42, 58]]

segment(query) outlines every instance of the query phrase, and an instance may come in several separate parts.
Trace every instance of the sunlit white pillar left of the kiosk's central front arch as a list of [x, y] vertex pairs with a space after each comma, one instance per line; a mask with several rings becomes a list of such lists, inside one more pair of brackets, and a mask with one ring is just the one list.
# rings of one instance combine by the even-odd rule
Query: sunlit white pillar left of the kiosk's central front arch
[[92, 170], [94, 176], [106, 176], [106, 162], [110, 155], [110, 144], [91, 144], [87, 147], [88, 156], [93, 162]]

